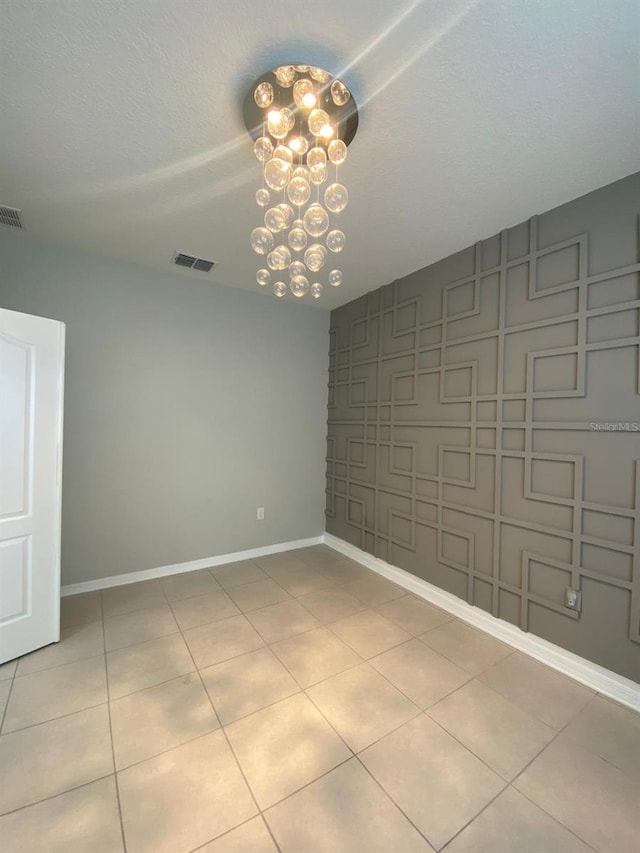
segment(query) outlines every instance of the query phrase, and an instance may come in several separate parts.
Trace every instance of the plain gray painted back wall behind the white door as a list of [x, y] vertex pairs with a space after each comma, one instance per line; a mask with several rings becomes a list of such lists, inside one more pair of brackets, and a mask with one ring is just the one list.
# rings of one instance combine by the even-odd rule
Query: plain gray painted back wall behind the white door
[[63, 583], [322, 533], [328, 314], [10, 232], [0, 270], [67, 324]]

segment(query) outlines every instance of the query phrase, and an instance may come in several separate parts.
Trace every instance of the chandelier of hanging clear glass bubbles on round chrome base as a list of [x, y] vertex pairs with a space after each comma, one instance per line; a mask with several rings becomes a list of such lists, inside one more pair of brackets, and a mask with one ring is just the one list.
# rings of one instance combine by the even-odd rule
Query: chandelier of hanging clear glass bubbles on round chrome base
[[244, 120], [262, 165], [256, 202], [263, 222], [251, 232], [254, 252], [264, 257], [256, 281], [280, 298], [290, 291], [318, 299], [321, 276], [342, 284], [334, 256], [345, 245], [339, 215], [349, 193], [339, 170], [358, 128], [353, 96], [322, 68], [281, 65], [253, 84]]

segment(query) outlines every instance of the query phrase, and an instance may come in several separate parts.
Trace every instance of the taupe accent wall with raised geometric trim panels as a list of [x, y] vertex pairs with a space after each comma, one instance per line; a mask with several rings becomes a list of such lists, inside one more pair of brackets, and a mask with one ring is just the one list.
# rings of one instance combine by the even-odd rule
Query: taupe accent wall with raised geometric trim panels
[[636, 681], [639, 213], [640, 173], [335, 310], [327, 452], [330, 533]]

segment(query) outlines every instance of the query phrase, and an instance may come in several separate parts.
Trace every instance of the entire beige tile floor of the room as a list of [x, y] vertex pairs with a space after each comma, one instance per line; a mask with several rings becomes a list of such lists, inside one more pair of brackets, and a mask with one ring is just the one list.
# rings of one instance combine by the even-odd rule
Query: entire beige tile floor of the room
[[323, 546], [62, 601], [3, 853], [638, 853], [640, 715]]

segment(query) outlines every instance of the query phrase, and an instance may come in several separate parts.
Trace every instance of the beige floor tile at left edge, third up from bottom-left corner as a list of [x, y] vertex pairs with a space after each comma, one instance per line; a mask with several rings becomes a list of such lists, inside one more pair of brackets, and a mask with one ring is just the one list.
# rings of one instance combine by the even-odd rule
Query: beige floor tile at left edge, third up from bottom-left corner
[[107, 701], [104, 657], [24, 675], [13, 682], [3, 734]]

